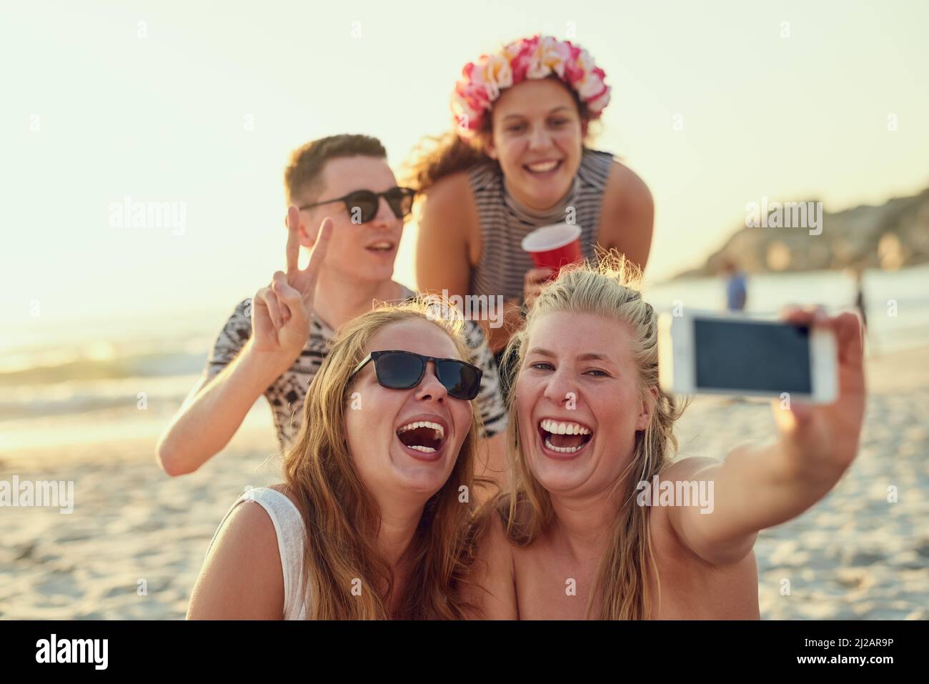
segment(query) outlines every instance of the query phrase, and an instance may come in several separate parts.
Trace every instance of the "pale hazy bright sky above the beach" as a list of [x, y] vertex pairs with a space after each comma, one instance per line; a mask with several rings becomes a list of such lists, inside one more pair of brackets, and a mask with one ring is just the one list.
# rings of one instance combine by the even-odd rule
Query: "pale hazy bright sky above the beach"
[[[594, 146], [648, 183], [655, 282], [763, 197], [929, 186], [926, 25], [915, 0], [4, 3], [0, 323], [231, 311], [284, 266], [291, 150], [366, 133], [396, 168], [451, 127], [464, 63], [538, 32], [607, 73]], [[134, 227], [127, 202], [177, 222]]]

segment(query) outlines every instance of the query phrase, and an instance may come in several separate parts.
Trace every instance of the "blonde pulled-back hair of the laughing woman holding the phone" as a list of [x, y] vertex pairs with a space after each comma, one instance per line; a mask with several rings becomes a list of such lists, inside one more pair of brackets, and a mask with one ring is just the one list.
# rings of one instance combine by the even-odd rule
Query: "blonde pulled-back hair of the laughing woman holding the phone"
[[[554, 283], [543, 288], [527, 316], [526, 325], [510, 339], [506, 348], [507, 362], [522, 368], [526, 342], [532, 322], [553, 311], [593, 313], [622, 321], [632, 332], [633, 360], [638, 368], [639, 397], [646, 400], [650, 388], [658, 386], [658, 322], [654, 309], [642, 298], [639, 290], [641, 271], [614, 251], [598, 251], [596, 267], [589, 263], [561, 271]], [[567, 331], [566, 331], [567, 334]], [[515, 357], [515, 359], [514, 359]], [[498, 497], [496, 506], [504, 516], [506, 533], [517, 546], [528, 546], [552, 524], [555, 511], [550, 494], [532, 475], [522, 454], [519, 441], [519, 420], [515, 393], [518, 380], [509, 390], [509, 432], [507, 453], [516, 480], [512, 494]], [[651, 615], [649, 567], [658, 570], [648, 534], [648, 506], [635, 505], [635, 485], [639, 480], [651, 480], [670, 463], [676, 452], [674, 421], [686, 404], [659, 389], [648, 428], [636, 432], [635, 447], [629, 464], [616, 481], [622, 487], [619, 514], [611, 531], [608, 551], [601, 561], [594, 590], [590, 592], [586, 614], [593, 611], [595, 589], [602, 590], [597, 617], [605, 620], [648, 619]], [[629, 477], [638, 474], [638, 480]], [[659, 596], [661, 601], [661, 596]]]

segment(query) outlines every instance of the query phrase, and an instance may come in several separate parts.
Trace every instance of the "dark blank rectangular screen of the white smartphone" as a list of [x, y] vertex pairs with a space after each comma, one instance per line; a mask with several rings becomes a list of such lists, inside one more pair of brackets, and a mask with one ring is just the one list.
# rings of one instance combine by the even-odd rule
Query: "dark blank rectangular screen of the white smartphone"
[[697, 388], [812, 394], [810, 328], [694, 320]]

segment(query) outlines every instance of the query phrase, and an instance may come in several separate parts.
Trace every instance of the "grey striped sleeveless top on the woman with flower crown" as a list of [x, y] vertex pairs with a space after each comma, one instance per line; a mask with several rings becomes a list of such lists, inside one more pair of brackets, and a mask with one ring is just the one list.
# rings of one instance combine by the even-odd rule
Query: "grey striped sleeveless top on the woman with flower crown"
[[574, 222], [581, 227], [582, 254], [593, 259], [600, 206], [612, 162], [609, 152], [584, 150], [569, 193], [544, 212], [531, 210], [513, 199], [496, 162], [471, 169], [468, 178], [478, 206], [482, 241], [480, 262], [471, 271], [471, 294], [503, 295], [504, 299], [522, 295], [523, 276], [533, 268], [531, 257], [520, 244], [522, 239], [540, 226], [565, 221], [569, 207], [574, 208]]

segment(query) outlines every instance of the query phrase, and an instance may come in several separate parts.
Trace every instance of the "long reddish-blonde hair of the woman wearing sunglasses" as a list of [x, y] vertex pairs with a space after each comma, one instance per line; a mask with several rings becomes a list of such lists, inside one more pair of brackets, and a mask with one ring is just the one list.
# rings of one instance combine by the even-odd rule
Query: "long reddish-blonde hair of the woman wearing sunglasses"
[[[435, 309], [432, 309], [435, 310]], [[454, 619], [473, 609], [463, 597], [474, 559], [472, 506], [459, 501], [459, 488], [474, 491], [480, 412], [442, 488], [425, 503], [411, 548], [412, 575], [399, 610], [391, 614], [394, 578], [375, 544], [380, 513], [352, 466], [344, 417], [354, 384], [348, 379], [367, 353], [373, 335], [386, 325], [423, 320], [454, 342], [463, 361], [470, 350], [460, 320], [429, 315], [422, 299], [384, 305], [340, 329], [319, 373], [310, 383], [303, 425], [284, 456], [288, 493], [306, 523], [304, 553], [307, 615], [310, 619]], [[363, 589], [353, 596], [353, 582]]]

